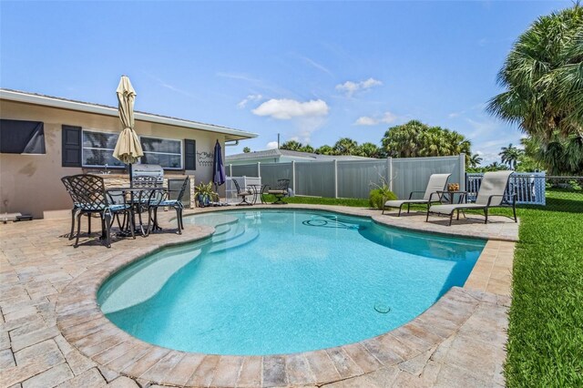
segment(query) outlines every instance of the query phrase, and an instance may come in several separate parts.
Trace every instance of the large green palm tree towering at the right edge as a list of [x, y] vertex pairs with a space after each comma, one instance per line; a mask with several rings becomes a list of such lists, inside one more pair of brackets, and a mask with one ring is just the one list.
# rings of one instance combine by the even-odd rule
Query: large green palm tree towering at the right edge
[[[583, 173], [583, 7], [541, 16], [518, 37], [498, 73], [506, 91], [488, 111], [537, 144], [553, 174]], [[528, 152], [527, 152], [528, 153]]]

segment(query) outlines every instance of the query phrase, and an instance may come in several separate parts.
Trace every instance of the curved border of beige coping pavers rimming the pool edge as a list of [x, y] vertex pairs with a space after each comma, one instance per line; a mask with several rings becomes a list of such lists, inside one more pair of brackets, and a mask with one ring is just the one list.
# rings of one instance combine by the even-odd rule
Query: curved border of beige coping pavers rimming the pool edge
[[[322, 210], [359, 216], [328, 207]], [[199, 226], [193, 237], [187, 228], [171, 242], [118, 254], [80, 274], [56, 302], [56, 323], [66, 341], [99, 365], [161, 385], [322, 385], [373, 373], [435, 348], [455, 334], [480, 302], [476, 292], [454, 287], [413, 321], [377, 337], [324, 350], [266, 356], [169, 350], [123, 332], [100, 310], [97, 291], [113, 273], [161, 248], [207, 239], [213, 232], [211, 227]]]

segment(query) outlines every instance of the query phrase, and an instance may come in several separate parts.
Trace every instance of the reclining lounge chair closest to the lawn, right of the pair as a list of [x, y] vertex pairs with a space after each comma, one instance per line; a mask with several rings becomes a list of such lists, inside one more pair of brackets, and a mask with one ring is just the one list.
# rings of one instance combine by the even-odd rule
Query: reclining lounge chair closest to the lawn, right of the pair
[[[429, 220], [429, 214], [445, 214], [449, 215], [449, 225], [452, 224], [454, 219], [454, 213], [457, 211], [457, 220], [459, 220], [459, 211], [463, 209], [483, 209], [484, 217], [486, 220], [484, 223], [488, 223], [488, 209], [490, 208], [500, 208], [506, 207], [508, 205], [512, 206], [512, 212], [514, 213], [514, 221], [517, 222], [517, 195], [504, 195], [506, 191], [506, 186], [508, 185], [508, 179], [514, 171], [492, 171], [486, 172], [482, 182], [480, 184], [480, 189], [478, 189], [476, 202], [475, 203], [458, 203], [454, 205], [434, 205], [427, 211], [427, 218], [425, 222]], [[505, 204], [506, 198], [506, 204]], [[512, 203], [508, 203], [507, 199], [512, 199]]]

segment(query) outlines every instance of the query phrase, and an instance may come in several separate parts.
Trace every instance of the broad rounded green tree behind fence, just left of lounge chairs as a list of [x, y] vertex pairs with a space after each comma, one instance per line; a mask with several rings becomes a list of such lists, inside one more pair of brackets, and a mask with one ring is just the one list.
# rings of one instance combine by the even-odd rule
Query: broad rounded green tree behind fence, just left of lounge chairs
[[393, 158], [438, 157], [465, 153], [471, 155], [471, 143], [455, 131], [429, 127], [417, 120], [389, 128], [381, 140], [387, 156]]

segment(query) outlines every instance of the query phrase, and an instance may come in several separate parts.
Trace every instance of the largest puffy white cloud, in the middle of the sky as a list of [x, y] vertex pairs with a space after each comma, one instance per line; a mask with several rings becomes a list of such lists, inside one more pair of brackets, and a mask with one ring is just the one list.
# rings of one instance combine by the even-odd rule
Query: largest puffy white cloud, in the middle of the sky
[[288, 98], [271, 98], [251, 112], [257, 116], [271, 116], [280, 120], [289, 120], [292, 117], [322, 117], [328, 115], [329, 110], [328, 104], [322, 99], [300, 102]]

